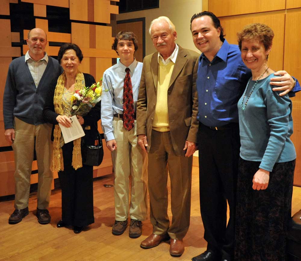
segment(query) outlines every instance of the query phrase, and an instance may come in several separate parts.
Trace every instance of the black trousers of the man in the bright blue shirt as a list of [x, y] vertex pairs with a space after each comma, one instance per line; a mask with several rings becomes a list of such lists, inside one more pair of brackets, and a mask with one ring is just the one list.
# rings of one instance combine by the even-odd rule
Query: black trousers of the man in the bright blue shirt
[[[207, 250], [215, 251], [222, 259], [232, 260], [240, 150], [238, 123], [223, 130], [212, 130], [200, 123], [198, 144], [200, 210]], [[227, 201], [230, 211], [228, 225]]]

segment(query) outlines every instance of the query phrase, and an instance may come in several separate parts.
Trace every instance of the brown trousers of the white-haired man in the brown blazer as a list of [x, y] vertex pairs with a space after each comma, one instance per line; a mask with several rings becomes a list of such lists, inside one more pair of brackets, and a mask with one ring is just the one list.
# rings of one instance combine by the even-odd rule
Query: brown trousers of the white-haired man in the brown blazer
[[[167, 215], [167, 173], [171, 185], [172, 222]], [[148, 190], [153, 233], [169, 234], [182, 239], [190, 223], [192, 156], [177, 156], [172, 148], [170, 132], [152, 130], [148, 153]]]

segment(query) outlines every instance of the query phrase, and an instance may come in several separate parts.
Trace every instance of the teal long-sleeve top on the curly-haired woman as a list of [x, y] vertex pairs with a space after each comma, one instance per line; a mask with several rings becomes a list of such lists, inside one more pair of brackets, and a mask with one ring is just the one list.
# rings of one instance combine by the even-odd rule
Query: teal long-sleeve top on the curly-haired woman
[[[256, 83], [250, 80], [247, 91], [237, 104], [240, 128], [240, 157], [260, 161], [259, 168], [272, 171], [275, 162], [296, 159], [296, 150], [290, 136], [293, 133], [292, 102], [288, 95], [273, 92], [270, 74], [259, 80], [245, 109], [247, 98]], [[245, 95], [244, 101], [243, 97]], [[243, 104], [242, 104], [243, 101]]]

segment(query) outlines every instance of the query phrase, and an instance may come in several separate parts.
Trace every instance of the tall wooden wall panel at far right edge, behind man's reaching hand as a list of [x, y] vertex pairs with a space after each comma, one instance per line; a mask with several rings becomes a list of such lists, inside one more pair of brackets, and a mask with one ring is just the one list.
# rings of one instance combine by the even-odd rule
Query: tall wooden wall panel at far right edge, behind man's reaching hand
[[[301, 64], [299, 58], [301, 31], [297, 25], [301, 23], [301, 10], [286, 14], [284, 37], [284, 69], [301, 82]], [[299, 26], [298, 26], [299, 28]], [[297, 93], [293, 101], [294, 133], [291, 137], [297, 152], [294, 183], [301, 186], [301, 93]]]

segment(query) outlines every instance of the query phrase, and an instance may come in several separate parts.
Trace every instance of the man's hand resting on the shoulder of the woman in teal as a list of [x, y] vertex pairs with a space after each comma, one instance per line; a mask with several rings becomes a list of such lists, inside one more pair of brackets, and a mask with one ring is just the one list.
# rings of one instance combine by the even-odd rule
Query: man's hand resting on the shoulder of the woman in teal
[[[279, 94], [279, 96], [286, 95], [289, 93], [294, 87], [294, 79], [288, 74], [286, 71], [277, 71], [274, 73], [275, 75], [281, 75], [279, 77], [271, 78], [271, 85], [275, 85], [273, 91], [284, 91]], [[277, 87], [279, 86], [279, 87]]]

